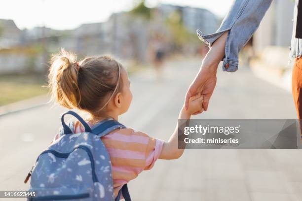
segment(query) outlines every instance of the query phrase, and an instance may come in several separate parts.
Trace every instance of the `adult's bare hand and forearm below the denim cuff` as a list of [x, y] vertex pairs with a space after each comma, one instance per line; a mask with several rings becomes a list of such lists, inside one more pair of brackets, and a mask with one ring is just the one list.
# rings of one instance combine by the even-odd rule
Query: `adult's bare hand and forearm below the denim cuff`
[[[220, 61], [225, 56], [225, 47], [227, 40], [227, 33], [222, 34], [215, 42], [212, 44], [209, 52], [202, 61], [202, 65], [195, 79], [189, 86], [186, 94], [185, 108], [188, 109], [189, 99], [196, 94], [203, 95], [203, 109], [206, 111], [208, 109], [209, 100], [213, 94], [214, 88], [216, 86], [216, 74], [217, 67]], [[201, 113], [202, 111], [196, 112], [195, 114]]]

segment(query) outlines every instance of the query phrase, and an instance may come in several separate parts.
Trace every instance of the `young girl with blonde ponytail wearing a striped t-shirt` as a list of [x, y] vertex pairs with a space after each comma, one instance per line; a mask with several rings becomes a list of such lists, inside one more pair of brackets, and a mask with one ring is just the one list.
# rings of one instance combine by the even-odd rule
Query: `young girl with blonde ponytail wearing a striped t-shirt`
[[[52, 100], [69, 109], [90, 113], [86, 122], [93, 126], [104, 119], [125, 113], [131, 103], [130, 81], [124, 67], [110, 57], [88, 57], [76, 62], [76, 56], [63, 49], [51, 59], [49, 88]], [[192, 97], [189, 109], [181, 109], [179, 119], [189, 119], [202, 112], [202, 96]], [[76, 121], [74, 133], [84, 132]], [[112, 163], [113, 189], [116, 198], [121, 187], [143, 170], [151, 169], [157, 159], [177, 159], [178, 126], [165, 142], [131, 128], [118, 129], [102, 137]], [[54, 140], [60, 136], [57, 134]]]

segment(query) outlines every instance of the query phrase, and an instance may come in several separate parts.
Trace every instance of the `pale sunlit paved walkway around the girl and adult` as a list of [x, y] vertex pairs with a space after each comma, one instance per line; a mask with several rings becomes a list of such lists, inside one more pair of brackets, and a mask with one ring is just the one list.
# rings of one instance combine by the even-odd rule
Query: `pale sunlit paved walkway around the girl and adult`
[[[133, 102], [119, 121], [168, 140], [200, 64], [167, 62], [159, 81], [152, 69], [131, 75]], [[296, 118], [289, 92], [248, 68], [218, 71], [209, 109], [195, 119]], [[64, 111], [47, 104], [0, 117], [0, 190], [28, 189], [24, 178], [57, 133]], [[301, 150], [188, 149], [178, 160], [158, 160], [129, 183], [129, 191], [134, 201], [301, 201], [301, 168]]]

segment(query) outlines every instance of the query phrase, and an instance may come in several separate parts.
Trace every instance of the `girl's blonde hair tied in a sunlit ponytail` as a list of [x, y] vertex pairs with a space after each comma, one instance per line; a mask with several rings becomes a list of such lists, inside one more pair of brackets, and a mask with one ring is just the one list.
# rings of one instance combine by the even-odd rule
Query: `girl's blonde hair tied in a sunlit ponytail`
[[99, 116], [110, 99], [122, 91], [121, 65], [113, 58], [87, 57], [79, 62], [64, 49], [50, 60], [51, 100]]

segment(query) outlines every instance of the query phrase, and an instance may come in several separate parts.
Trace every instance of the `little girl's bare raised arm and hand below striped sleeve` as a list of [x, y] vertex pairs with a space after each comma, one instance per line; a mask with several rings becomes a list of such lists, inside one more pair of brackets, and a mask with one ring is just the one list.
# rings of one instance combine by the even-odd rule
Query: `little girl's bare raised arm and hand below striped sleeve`
[[[178, 119], [190, 119], [191, 115], [202, 111], [202, 100], [203, 96], [197, 95], [191, 97], [189, 100], [189, 108], [185, 110], [185, 106], [183, 106], [182, 110], [179, 113]], [[161, 153], [159, 155], [159, 159], [178, 159], [182, 156], [185, 149], [178, 148], [178, 123], [176, 124], [176, 128], [171, 135], [170, 139], [164, 143]]]

